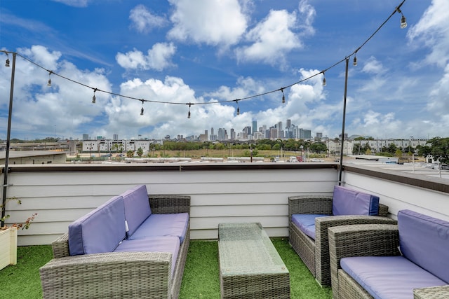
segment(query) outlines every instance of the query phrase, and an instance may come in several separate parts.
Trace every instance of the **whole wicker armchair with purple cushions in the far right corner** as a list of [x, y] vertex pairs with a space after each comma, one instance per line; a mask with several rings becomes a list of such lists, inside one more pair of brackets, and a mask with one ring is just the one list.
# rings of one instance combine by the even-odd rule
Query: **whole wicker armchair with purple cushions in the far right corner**
[[[387, 217], [388, 207], [379, 204], [379, 197], [342, 186], [335, 186], [333, 196], [288, 197], [288, 215], [289, 242], [323, 286], [331, 282], [328, 228], [361, 223], [396, 224]], [[305, 216], [305, 225], [295, 222], [297, 216]]]

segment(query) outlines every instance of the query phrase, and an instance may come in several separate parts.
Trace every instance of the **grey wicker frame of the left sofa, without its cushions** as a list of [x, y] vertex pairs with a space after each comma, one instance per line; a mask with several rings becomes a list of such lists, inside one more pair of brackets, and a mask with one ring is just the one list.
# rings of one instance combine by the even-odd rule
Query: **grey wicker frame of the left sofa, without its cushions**
[[[186, 195], [149, 195], [153, 214], [190, 213]], [[190, 230], [177, 260], [171, 253], [112, 252], [69, 256], [68, 234], [53, 242], [53, 260], [41, 267], [44, 298], [178, 298]], [[175, 263], [173, 277], [172, 263]]]

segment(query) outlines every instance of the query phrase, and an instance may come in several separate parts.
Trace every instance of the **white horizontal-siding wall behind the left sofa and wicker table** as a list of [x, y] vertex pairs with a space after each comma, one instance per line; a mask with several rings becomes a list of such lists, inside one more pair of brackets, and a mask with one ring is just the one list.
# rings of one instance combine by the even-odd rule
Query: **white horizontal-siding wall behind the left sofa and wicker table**
[[7, 222], [38, 213], [29, 230], [20, 230], [20, 245], [50, 244], [70, 222], [138, 184], [146, 184], [152, 194], [192, 196], [192, 239], [216, 239], [218, 223], [248, 221], [262, 223], [270, 236], [288, 236], [288, 196], [330, 195], [337, 181], [333, 168], [145, 172], [142, 167], [152, 165], [139, 171], [133, 165], [126, 171], [92, 166], [95, 171], [70, 172], [64, 166], [65, 171], [8, 174], [13, 186], [7, 195], [22, 204], [8, 202]]

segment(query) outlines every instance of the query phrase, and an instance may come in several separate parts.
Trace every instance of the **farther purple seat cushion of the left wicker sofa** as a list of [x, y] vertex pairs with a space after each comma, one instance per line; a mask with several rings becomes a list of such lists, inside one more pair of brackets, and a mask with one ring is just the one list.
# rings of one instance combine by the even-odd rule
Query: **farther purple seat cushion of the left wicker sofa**
[[175, 236], [184, 241], [187, 225], [189, 223], [188, 213], [177, 214], [152, 214], [140, 225], [138, 230], [130, 235], [128, 239], [142, 239], [157, 236]]

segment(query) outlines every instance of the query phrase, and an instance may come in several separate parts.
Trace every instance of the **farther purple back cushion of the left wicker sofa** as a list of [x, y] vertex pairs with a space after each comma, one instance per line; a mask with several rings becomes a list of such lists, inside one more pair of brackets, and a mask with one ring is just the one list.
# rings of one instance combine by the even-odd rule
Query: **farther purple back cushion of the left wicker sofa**
[[123, 196], [123, 202], [125, 203], [125, 219], [126, 223], [128, 223], [126, 235], [129, 237], [152, 214], [152, 210], [149, 207], [147, 186], [135, 186], [122, 193], [121, 196]]

